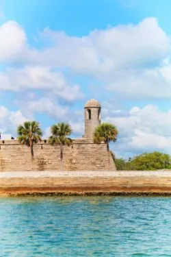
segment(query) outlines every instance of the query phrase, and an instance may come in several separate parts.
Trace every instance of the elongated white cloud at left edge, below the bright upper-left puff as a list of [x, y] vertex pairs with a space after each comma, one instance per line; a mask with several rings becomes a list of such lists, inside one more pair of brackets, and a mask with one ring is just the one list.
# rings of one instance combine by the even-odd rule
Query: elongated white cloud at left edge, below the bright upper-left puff
[[7, 69], [0, 73], [0, 89], [21, 90], [51, 90], [56, 96], [74, 101], [81, 99], [83, 93], [77, 85], [68, 85], [61, 72], [51, 71], [45, 66], [25, 66], [23, 69]]

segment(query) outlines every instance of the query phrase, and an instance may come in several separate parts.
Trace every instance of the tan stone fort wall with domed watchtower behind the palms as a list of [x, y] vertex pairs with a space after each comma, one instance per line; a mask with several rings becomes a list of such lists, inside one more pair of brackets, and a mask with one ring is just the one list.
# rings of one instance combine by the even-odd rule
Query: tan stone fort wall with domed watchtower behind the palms
[[[94, 129], [101, 124], [101, 104], [91, 99], [84, 108], [85, 134], [73, 139], [64, 147], [64, 171], [116, 170], [104, 143], [94, 144]], [[47, 140], [34, 145], [34, 160], [30, 148], [18, 140], [0, 140], [0, 171], [57, 171], [60, 170], [60, 147], [51, 146]]]

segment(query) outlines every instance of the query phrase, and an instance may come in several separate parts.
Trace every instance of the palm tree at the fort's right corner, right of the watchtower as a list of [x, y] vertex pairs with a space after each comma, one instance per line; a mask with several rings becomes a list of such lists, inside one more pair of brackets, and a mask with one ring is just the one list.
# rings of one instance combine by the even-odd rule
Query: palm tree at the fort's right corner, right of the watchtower
[[109, 142], [115, 142], [118, 136], [118, 130], [115, 125], [111, 123], [102, 123], [98, 127], [96, 127], [94, 131], [94, 143], [104, 142], [107, 146], [107, 154], [108, 154], [108, 165], [110, 168], [110, 150], [109, 150]]

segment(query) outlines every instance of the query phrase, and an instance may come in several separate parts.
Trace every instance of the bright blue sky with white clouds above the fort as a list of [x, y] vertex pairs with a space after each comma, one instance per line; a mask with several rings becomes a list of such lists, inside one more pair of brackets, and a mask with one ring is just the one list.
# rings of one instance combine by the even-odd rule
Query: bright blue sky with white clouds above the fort
[[170, 0], [0, 0], [0, 131], [36, 120], [84, 134], [98, 99], [129, 158], [171, 154]]

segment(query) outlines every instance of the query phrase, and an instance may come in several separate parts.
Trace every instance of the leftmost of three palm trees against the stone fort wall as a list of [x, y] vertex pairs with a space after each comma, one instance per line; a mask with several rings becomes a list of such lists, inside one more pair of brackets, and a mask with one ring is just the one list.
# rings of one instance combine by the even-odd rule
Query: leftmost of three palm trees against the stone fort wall
[[37, 121], [25, 121], [17, 128], [18, 141], [31, 149], [31, 158], [34, 158], [34, 144], [41, 141], [42, 130]]

